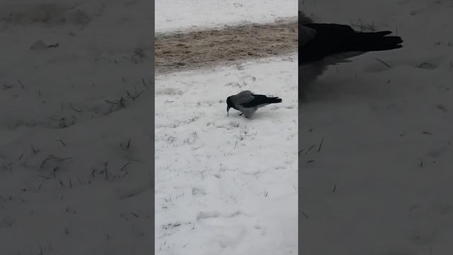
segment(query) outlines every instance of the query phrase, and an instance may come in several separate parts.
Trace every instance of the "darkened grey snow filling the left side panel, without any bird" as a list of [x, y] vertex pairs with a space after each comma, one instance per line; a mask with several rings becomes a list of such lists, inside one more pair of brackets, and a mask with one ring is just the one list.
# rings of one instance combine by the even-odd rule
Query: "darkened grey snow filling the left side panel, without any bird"
[[46, 3], [0, 1], [0, 254], [149, 254], [149, 1]]

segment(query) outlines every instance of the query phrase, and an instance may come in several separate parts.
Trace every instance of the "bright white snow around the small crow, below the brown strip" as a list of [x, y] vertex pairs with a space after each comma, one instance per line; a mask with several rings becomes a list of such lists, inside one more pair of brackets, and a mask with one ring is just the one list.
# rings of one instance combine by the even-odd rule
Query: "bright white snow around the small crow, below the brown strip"
[[295, 53], [156, 77], [156, 254], [297, 254], [296, 90]]

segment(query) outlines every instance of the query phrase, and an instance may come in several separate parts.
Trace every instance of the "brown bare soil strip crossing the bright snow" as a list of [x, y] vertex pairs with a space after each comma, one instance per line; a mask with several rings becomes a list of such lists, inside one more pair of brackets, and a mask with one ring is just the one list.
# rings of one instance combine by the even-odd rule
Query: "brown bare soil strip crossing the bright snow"
[[156, 35], [154, 50], [156, 74], [272, 57], [297, 51], [297, 22]]

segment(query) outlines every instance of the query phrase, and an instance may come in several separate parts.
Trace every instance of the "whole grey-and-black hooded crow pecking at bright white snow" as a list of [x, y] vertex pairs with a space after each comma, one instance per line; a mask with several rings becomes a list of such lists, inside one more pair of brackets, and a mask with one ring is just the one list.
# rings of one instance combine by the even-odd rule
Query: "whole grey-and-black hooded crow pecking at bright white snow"
[[241, 91], [239, 94], [226, 98], [226, 115], [229, 115], [229, 108], [234, 108], [241, 112], [240, 115], [251, 118], [258, 108], [267, 106], [270, 103], [282, 103], [282, 99], [253, 94], [252, 91]]

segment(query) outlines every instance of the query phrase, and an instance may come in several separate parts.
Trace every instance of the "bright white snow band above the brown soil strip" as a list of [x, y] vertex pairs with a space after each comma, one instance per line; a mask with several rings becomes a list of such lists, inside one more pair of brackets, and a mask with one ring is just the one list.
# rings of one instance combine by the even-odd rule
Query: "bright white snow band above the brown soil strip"
[[297, 1], [155, 1], [156, 33], [270, 23], [297, 17]]

